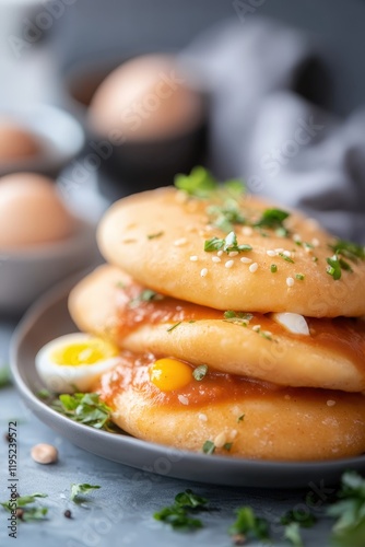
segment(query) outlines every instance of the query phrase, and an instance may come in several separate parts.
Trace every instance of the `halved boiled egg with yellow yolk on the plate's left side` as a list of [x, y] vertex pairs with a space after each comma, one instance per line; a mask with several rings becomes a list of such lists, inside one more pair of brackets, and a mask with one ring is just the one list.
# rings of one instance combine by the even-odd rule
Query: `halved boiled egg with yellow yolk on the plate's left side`
[[55, 393], [87, 393], [118, 362], [119, 349], [91, 335], [74, 333], [46, 344], [35, 364], [46, 387]]

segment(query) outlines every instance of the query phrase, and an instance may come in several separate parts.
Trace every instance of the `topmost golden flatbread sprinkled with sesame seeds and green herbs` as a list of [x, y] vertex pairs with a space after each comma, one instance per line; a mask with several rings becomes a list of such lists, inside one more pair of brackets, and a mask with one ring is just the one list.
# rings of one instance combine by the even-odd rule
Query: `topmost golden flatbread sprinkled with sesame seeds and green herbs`
[[157, 292], [217, 310], [365, 314], [363, 247], [235, 188], [201, 195], [168, 187], [117, 201], [98, 229], [103, 255]]

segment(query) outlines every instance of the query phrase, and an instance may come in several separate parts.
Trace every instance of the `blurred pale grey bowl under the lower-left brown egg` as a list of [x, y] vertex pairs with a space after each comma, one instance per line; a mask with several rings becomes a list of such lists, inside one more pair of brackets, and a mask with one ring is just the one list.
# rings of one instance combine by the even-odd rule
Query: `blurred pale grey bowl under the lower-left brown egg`
[[24, 312], [58, 281], [99, 260], [95, 226], [83, 220], [66, 240], [24, 251], [0, 249], [0, 314]]

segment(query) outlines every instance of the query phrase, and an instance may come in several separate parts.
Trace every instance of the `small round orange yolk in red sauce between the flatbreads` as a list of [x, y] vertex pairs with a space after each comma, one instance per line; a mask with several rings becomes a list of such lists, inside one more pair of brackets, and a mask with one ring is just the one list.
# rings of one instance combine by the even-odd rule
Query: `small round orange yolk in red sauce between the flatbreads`
[[185, 387], [191, 379], [192, 369], [176, 359], [158, 359], [150, 368], [150, 380], [162, 392]]

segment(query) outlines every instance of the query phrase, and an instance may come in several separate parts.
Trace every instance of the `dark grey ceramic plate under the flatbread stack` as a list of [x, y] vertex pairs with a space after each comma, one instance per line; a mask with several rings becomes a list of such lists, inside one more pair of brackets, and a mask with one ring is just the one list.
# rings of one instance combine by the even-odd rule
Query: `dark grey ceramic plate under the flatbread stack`
[[76, 330], [68, 313], [67, 296], [80, 277], [57, 287], [30, 310], [14, 334], [11, 350], [12, 373], [25, 404], [61, 435], [98, 456], [143, 470], [235, 487], [308, 488], [311, 482], [334, 484], [349, 468], [365, 469], [365, 456], [326, 463], [278, 463], [179, 452], [127, 434], [98, 431], [57, 414], [35, 395], [42, 384], [34, 359], [47, 341]]

